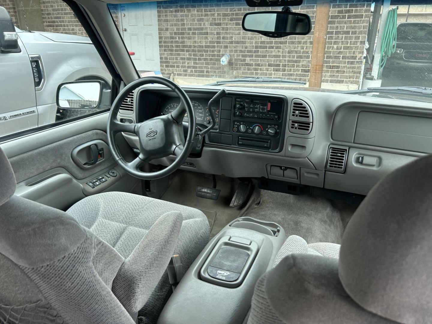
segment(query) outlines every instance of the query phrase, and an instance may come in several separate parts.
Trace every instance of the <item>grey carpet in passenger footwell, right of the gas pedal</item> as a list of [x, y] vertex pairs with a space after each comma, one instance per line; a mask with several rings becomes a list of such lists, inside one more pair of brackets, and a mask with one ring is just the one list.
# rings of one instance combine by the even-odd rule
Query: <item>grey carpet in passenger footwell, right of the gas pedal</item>
[[354, 210], [355, 207], [324, 198], [260, 190], [256, 203], [241, 216], [276, 222], [287, 237], [299, 235], [308, 243], [340, 243]]

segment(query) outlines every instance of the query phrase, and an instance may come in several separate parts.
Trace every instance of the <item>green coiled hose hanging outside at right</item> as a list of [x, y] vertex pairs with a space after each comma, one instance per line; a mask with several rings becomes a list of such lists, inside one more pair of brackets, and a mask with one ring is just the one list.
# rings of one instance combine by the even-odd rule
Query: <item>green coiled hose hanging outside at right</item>
[[384, 33], [381, 38], [381, 58], [379, 62], [378, 79], [381, 70], [384, 68], [387, 58], [396, 51], [397, 38], [397, 8], [388, 11], [387, 21], [384, 26]]

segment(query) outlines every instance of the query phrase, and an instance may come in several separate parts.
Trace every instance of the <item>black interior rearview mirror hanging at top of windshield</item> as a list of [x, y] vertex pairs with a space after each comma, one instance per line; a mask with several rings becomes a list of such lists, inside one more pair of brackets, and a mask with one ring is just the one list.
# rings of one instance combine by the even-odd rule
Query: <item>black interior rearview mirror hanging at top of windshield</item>
[[307, 35], [311, 32], [311, 19], [304, 13], [285, 11], [258, 11], [246, 13], [241, 27], [267, 37]]

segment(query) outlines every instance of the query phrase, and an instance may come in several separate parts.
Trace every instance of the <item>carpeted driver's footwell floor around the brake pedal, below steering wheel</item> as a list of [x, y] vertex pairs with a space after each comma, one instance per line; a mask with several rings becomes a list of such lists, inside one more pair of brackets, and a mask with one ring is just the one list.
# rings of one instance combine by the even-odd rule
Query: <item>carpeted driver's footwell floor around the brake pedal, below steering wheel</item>
[[237, 189], [238, 181], [233, 178], [217, 176], [217, 189], [220, 189], [219, 199], [210, 200], [197, 197], [198, 185], [212, 187], [211, 175], [195, 172], [178, 171], [172, 177], [172, 183], [162, 195], [162, 200], [179, 203], [201, 210], [206, 214], [210, 224], [210, 238], [220, 232], [233, 219], [239, 217], [241, 209], [230, 207], [232, 196]]

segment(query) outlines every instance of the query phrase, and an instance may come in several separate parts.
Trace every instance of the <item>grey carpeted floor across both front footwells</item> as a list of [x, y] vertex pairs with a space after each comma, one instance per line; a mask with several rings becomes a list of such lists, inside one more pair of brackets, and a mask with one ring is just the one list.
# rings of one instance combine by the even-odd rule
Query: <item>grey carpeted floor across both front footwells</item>
[[218, 200], [196, 196], [197, 185], [212, 187], [211, 175], [194, 172], [176, 172], [162, 200], [197, 208], [207, 216], [210, 237], [216, 235], [233, 219], [250, 216], [280, 224], [287, 236], [299, 235], [308, 243], [340, 243], [343, 230], [355, 207], [340, 201], [309, 196], [294, 196], [255, 189], [248, 208], [229, 207], [238, 181], [217, 177]]

